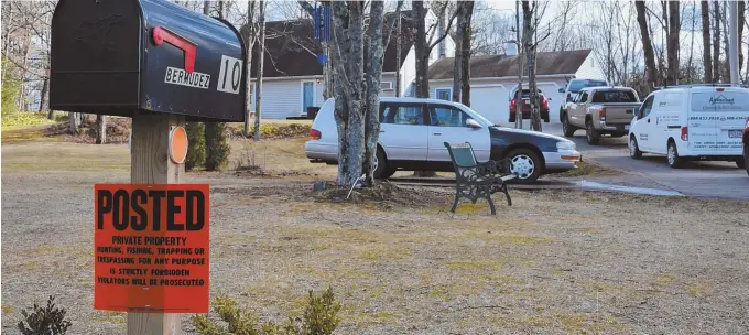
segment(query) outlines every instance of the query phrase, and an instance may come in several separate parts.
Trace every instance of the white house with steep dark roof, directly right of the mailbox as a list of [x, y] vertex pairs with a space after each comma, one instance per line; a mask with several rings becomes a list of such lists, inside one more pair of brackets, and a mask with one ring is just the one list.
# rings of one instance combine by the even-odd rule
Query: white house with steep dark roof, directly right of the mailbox
[[[414, 32], [410, 11], [401, 12], [401, 56], [398, 57], [395, 34], [389, 33], [388, 23], [393, 22], [394, 13], [387, 13], [383, 28], [384, 48], [382, 64], [382, 95], [395, 96], [397, 67], [401, 69], [401, 96], [415, 78]], [[436, 20], [431, 11], [426, 15], [426, 26]], [[285, 119], [306, 115], [307, 107], [319, 107], [323, 98], [323, 66], [317, 62], [313, 42], [312, 20], [274, 21], [265, 23], [268, 40], [263, 60], [263, 85], [261, 117], [263, 119]], [[435, 30], [433, 30], [435, 31]], [[455, 55], [455, 42], [448, 35], [442, 42], [442, 57]], [[441, 46], [435, 46], [430, 55], [430, 65], [441, 57]], [[251, 91], [254, 93], [252, 68]], [[251, 110], [254, 110], [252, 98]]]

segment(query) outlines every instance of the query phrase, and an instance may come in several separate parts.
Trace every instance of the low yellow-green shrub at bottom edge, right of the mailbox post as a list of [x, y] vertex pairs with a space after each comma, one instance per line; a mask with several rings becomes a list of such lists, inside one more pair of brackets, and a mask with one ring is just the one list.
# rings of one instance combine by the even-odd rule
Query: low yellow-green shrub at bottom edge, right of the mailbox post
[[219, 296], [214, 299], [214, 312], [227, 327], [206, 314], [193, 316], [192, 324], [200, 335], [330, 335], [340, 324], [340, 307], [332, 288], [319, 295], [310, 291], [307, 306], [301, 320], [289, 317], [281, 325], [265, 322], [258, 326], [258, 318], [251, 312], [219, 292]]

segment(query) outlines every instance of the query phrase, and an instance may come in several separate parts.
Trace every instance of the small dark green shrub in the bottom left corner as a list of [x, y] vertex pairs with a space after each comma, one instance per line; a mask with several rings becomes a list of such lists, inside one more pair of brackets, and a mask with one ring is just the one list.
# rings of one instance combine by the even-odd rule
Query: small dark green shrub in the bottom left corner
[[[46, 307], [34, 304], [31, 314], [24, 309], [21, 311], [23, 321], [19, 322], [19, 331], [23, 335], [64, 335], [72, 325], [65, 321], [65, 309], [57, 309], [54, 304], [54, 296], [50, 295]], [[24, 323], [25, 321], [25, 323]]]

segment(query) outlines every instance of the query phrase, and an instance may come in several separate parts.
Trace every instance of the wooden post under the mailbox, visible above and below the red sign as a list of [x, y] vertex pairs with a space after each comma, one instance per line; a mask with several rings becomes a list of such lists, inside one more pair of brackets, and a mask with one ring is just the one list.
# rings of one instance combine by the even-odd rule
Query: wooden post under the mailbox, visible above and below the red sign
[[[169, 158], [172, 126], [185, 126], [174, 115], [135, 112], [132, 117], [130, 183], [177, 184], [185, 176], [185, 164]], [[128, 335], [180, 335], [181, 315], [176, 313], [128, 313]]]

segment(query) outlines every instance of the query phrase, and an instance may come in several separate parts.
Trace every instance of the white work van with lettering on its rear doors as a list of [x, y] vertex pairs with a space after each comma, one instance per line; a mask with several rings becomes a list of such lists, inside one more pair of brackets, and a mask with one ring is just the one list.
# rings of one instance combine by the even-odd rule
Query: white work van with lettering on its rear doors
[[671, 168], [687, 160], [734, 161], [745, 168], [741, 137], [749, 89], [702, 85], [651, 93], [629, 127], [629, 154], [664, 154]]

